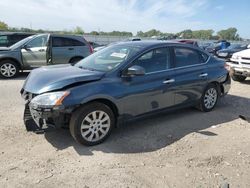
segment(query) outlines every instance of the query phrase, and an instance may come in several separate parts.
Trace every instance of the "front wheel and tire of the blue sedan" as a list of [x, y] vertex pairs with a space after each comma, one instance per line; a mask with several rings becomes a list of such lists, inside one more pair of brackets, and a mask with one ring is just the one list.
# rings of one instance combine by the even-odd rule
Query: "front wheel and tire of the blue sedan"
[[69, 129], [77, 142], [93, 146], [109, 137], [114, 124], [113, 111], [105, 104], [93, 102], [84, 105], [72, 114]]

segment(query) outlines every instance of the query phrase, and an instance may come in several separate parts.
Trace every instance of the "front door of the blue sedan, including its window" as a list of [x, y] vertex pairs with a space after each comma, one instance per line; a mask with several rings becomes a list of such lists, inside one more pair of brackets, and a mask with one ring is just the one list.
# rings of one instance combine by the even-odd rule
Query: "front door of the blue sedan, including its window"
[[157, 48], [139, 57], [131, 66], [138, 65], [146, 74], [122, 78], [125, 96], [122, 111], [136, 116], [174, 105], [174, 71], [171, 70], [168, 48]]

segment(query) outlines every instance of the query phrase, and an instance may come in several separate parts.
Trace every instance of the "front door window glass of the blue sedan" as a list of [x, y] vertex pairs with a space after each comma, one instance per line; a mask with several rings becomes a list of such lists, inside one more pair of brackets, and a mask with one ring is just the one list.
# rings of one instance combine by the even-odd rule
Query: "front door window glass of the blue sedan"
[[135, 65], [143, 67], [146, 73], [169, 69], [171, 66], [169, 49], [158, 48], [151, 50], [138, 58]]

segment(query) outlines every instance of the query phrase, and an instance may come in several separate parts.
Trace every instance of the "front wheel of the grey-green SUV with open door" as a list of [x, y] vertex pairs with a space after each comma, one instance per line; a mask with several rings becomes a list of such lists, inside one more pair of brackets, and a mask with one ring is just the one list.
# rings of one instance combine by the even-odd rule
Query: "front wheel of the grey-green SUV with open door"
[[0, 62], [0, 77], [15, 78], [19, 74], [19, 66], [12, 60], [4, 60]]

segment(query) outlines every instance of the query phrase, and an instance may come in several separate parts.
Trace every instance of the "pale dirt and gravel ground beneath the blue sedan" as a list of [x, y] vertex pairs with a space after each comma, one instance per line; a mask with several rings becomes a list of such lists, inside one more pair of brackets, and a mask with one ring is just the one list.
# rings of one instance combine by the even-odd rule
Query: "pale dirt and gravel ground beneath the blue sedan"
[[213, 112], [160, 114], [85, 147], [68, 130], [26, 132], [24, 79], [0, 80], [0, 187], [250, 187], [250, 80]]

